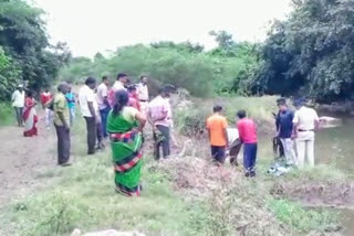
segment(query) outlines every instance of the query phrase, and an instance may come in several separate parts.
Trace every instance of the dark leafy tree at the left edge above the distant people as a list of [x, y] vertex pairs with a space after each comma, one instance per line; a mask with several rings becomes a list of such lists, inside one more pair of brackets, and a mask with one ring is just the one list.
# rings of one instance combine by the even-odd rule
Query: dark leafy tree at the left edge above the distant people
[[42, 14], [22, 0], [0, 1], [0, 100], [23, 81], [37, 90], [50, 85], [70, 57], [65, 44], [50, 45]]

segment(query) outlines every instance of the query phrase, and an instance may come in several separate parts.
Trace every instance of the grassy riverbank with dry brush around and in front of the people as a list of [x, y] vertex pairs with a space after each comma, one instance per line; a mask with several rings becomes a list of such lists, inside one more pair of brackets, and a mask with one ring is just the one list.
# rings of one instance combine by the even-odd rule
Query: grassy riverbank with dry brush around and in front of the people
[[[251, 104], [274, 106], [275, 98], [268, 99], [271, 103], [254, 98]], [[205, 105], [207, 111], [212, 103], [209, 100]], [[235, 110], [239, 109], [236, 104], [250, 106], [237, 98], [225, 103], [235, 105]], [[254, 108], [257, 115], [253, 116], [270, 114], [271, 118], [270, 111]], [[176, 116], [178, 112], [181, 111]], [[235, 111], [229, 112], [232, 120]], [[188, 121], [190, 114], [192, 109], [177, 116], [176, 125]], [[272, 124], [271, 119], [269, 121]], [[192, 126], [187, 124], [186, 127]], [[181, 131], [188, 130], [177, 127]], [[205, 139], [178, 135], [180, 147], [175, 152], [180, 153], [184, 149], [180, 157], [156, 162], [146, 146], [143, 195], [126, 199], [114, 192], [110, 149], [93, 157], [85, 155], [85, 128], [81, 118], [72, 133], [74, 164], [65, 169], [48, 167], [38, 172], [35, 181], [49, 182], [50, 186], [29, 191], [24, 197], [3, 206], [0, 213], [2, 235], [69, 235], [74, 228], [82, 232], [137, 229], [148, 236], [340, 234], [337, 214], [327, 208], [302, 205], [305, 203], [302, 196], [312, 196], [309, 195], [312, 189], [302, 186], [323, 186], [325, 193], [351, 183], [351, 178], [335, 168], [320, 165], [274, 178], [267, 174], [272, 155], [260, 150], [258, 176], [246, 179], [241, 167], [212, 165]], [[146, 135], [150, 137], [150, 133]], [[150, 141], [147, 139], [147, 143]], [[186, 143], [185, 148], [183, 143]], [[332, 189], [334, 186], [336, 189]], [[320, 189], [317, 191], [321, 193]]]

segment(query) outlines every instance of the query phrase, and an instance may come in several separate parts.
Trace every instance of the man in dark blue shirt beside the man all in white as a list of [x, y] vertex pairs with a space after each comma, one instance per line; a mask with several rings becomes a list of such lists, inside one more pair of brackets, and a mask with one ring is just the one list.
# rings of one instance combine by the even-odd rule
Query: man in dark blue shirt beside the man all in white
[[279, 100], [278, 107], [279, 114], [277, 119], [277, 135], [281, 143], [283, 144], [287, 164], [293, 165], [298, 163], [294, 151], [294, 143], [291, 138], [293, 131], [294, 112], [288, 108], [285, 99]]

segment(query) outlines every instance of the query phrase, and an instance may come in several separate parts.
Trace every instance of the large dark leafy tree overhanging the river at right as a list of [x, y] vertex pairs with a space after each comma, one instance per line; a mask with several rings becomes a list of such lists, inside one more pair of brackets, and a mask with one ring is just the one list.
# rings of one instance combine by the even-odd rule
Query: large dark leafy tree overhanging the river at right
[[354, 2], [293, 1], [287, 21], [275, 22], [262, 47], [253, 89], [309, 95], [320, 100], [353, 98]]

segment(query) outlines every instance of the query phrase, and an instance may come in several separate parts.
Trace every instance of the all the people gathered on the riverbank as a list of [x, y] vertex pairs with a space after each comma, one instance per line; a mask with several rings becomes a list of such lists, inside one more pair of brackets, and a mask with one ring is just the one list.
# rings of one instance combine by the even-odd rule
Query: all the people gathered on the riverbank
[[[143, 158], [144, 128], [146, 122], [153, 127], [154, 157], [160, 159], [170, 155], [173, 112], [169, 103], [170, 87], [164, 86], [158, 96], [149, 100], [147, 76], [140, 83], [132, 85], [124, 73], [117, 75], [110, 87], [110, 77], [103, 76], [97, 86], [96, 79], [88, 77], [80, 88], [77, 103], [81, 115], [86, 122], [87, 154], [104, 148], [106, 139], [111, 142], [115, 171], [115, 190], [127, 196], [140, 194], [140, 168]], [[24, 122], [24, 136], [37, 136], [38, 122], [33, 94], [23, 86], [13, 93], [12, 100], [19, 126]], [[71, 165], [71, 126], [75, 118], [76, 96], [71, 86], [61, 83], [53, 97], [49, 89], [41, 94], [41, 103], [45, 109], [45, 125], [53, 122], [58, 136], [58, 164]], [[314, 109], [305, 106], [304, 100], [294, 103], [296, 111], [287, 106], [284, 98], [278, 99], [277, 138], [281, 140], [289, 165], [302, 168], [305, 158], [310, 165], [314, 164], [314, 131], [319, 128], [319, 117]], [[222, 115], [222, 107], [215, 106], [214, 115], [207, 119], [208, 137], [212, 160], [225, 163], [226, 155], [237, 164], [237, 154], [243, 146], [243, 167], [246, 176], [256, 176], [258, 137], [256, 122], [247, 117], [246, 110], [237, 112], [238, 142], [230, 143], [228, 121]], [[53, 121], [51, 121], [53, 119]], [[294, 149], [294, 141], [296, 151]]]

